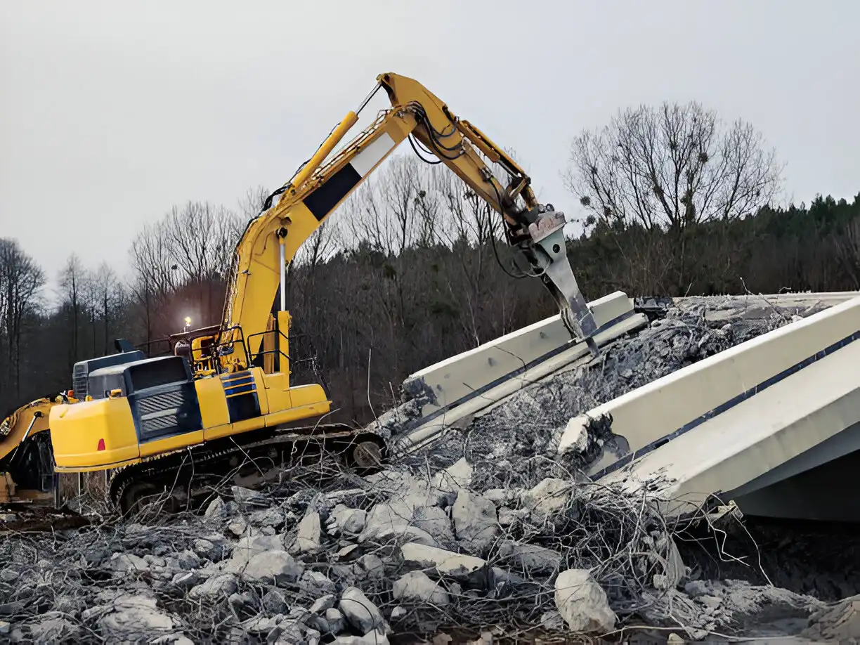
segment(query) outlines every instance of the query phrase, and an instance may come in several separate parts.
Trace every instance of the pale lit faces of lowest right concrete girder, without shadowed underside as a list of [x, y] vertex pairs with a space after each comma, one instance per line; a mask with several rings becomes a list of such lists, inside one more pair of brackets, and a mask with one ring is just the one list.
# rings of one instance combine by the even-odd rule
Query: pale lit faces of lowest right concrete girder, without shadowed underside
[[[857, 433], [839, 453], [812, 454], [860, 421], [860, 372], [852, 369], [858, 361], [860, 341], [599, 481], [621, 483], [628, 492], [647, 486], [661, 512], [677, 517], [696, 512], [713, 494], [723, 504], [734, 503], [856, 451]], [[807, 454], [811, 458], [802, 464], [792, 462]]]

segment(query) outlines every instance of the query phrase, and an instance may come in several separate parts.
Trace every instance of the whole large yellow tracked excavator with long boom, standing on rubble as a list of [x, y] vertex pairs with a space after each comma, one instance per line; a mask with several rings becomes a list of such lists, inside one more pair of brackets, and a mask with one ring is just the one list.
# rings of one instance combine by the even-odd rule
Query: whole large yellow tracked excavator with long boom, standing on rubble
[[[380, 89], [391, 107], [329, 159]], [[568, 261], [563, 213], [539, 204], [525, 171], [421, 83], [385, 73], [249, 221], [217, 328], [186, 333], [173, 355], [148, 358], [126, 343], [119, 353], [74, 366], [75, 401], [54, 404], [49, 414], [56, 470], [111, 470], [110, 496], [125, 512], [165, 489], [181, 500], [192, 481], [199, 490], [232, 476], [253, 487], [313, 445], [359, 470], [378, 468], [386, 456], [378, 435], [322, 423], [332, 404], [322, 386], [290, 383], [285, 272], [302, 243], [406, 138], [501, 215], [507, 243], [556, 299], [572, 337], [596, 354], [596, 326]], [[490, 164], [503, 169], [505, 181]]]

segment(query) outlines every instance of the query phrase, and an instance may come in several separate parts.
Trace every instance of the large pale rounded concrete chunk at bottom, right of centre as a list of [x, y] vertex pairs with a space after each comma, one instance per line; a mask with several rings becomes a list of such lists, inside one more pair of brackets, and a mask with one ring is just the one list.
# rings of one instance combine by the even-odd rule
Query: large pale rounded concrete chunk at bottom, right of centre
[[606, 593], [587, 569], [568, 569], [556, 578], [556, 609], [571, 631], [605, 633], [617, 617]]

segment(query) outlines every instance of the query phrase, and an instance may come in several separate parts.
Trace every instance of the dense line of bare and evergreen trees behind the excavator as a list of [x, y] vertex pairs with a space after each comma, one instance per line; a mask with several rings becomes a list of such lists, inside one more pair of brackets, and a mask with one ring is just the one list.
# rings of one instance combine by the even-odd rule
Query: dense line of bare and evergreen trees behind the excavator
[[[567, 181], [587, 213], [568, 255], [587, 298], [860, 289], [860, 194], [773, 206], [781, 167], [751, 126], [695, 103], [619, 112], [574, 139]], [[189, 202], [138, 231], [130, 267], [72, 254], [47, 276], [0, 238], [0, 414], [70, 387], [71, 365], [219, 322], [237, 238], [267, 191], [236, 209]], [[120, 273], [121, 276], [120, 277]], [[555, 313], [519, 274], [498, 216], [441, 165], [395, 157], [288, 268], [299, 376], [342, 419], [368, 421], [410, 372]], [[312, 367], [312, 369], [311, 369]]]

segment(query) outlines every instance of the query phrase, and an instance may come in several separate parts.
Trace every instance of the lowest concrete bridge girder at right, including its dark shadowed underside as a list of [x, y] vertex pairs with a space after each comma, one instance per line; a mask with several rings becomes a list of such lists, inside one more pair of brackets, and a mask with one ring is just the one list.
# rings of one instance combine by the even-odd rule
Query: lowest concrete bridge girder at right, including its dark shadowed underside
[[[860, 519], [845, 476], [860, 454], [860, 342], [851, 342], [601, 482], [623, 482], [665, 513], [696, 511], [716, 495], [743, 513], [792, 519]], [[817, 483], [816, 483], [817, 482]], [[828, 488], [829, 487], [829, 488]]]

